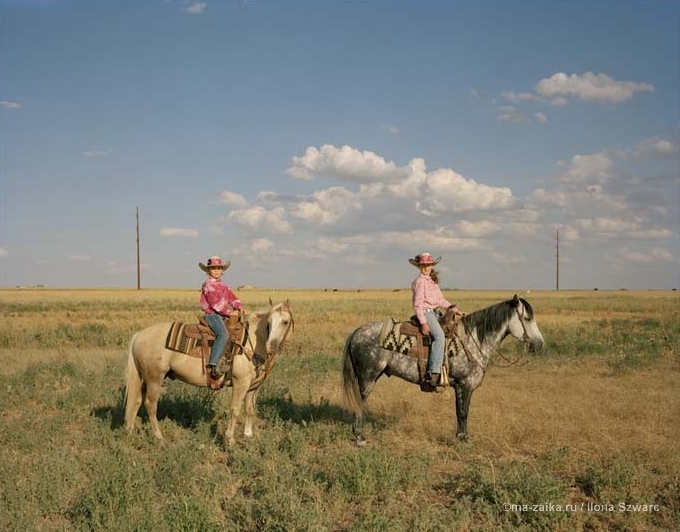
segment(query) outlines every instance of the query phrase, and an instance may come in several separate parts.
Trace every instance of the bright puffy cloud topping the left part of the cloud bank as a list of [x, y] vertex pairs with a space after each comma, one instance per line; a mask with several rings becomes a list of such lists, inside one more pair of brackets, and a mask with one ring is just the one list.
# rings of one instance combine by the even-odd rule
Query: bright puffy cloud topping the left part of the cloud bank
[[349, 181], [389, 181], [404, 177], [408, 168], [398, 168], [371, 151], [359, 151], [350, 146], [336, 148], [330, 144], [317, 149], [307, 148], [301, 157], [293, 157], [293, 166], [286, 174], [296, 179], [311, 180], [323, 176]]

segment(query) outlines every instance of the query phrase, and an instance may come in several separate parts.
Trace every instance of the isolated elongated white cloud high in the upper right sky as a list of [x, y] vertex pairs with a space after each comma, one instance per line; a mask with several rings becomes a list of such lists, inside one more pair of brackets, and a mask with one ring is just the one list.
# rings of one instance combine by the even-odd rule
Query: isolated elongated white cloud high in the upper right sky
[[649, 83], [617, 81], [606, 74], [567, 75], [563, 72], [542, 79], [536, 85], [536, 92], [545, 98], [577, 98], [584, 101], [621, 103], [630, 100], [636, 92], [654, 92]]

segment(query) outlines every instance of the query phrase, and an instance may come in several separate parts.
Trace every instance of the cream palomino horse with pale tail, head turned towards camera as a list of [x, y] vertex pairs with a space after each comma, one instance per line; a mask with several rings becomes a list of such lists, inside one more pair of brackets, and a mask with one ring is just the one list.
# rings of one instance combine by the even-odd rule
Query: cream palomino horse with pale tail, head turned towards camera
[[[293, 330], [293, 309], [290, 302], [273, 305], [270, 309], [252, 312], [248, 316], [247, 346], [252, 346], [253, 356], [241, 353], [232, 362], [232, 396], [229, 424], [225, 440], [235, 442], [236, 419], [245, 401], [246, 420], [244, 436], [253, 435], [253, 422], [257, 415], [256, 401], [260, 385], [269, 376], [276, 355]], [[125, 374], [125, 428], [132, 432], [139, 407], [144, 402], [154, 436], [163, 439], [156, 410], [161, 384], [165, 377], [180, 379], [194, 386], [207, 386], [203, 361], [165, 348], [165, 339], [171, 323], [157, 323], [135, 333], [128, 346]], [[222, 377], [223, 380], [225, 377]], [[221, 383], [221, 382], [220, 382]]]

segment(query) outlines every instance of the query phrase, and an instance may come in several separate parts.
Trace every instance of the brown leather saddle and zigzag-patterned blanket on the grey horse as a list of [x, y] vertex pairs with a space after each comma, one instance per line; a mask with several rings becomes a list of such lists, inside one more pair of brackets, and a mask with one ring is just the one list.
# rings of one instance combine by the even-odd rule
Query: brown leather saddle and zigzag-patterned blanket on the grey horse
[[[456, 319], [453, 311], [447, 310], [443, 315], [440, 314], [439, 323], [442, 326], [446, 338], [446, 346], [444, 348], [444, 359], [446, 360], [449, 356], [449, 351], [452, 349], [457, 351], [455, 337], [457, 337], [458, 334], [457, 329], [460, 320]], [[431, 343], [432, 338], [430, 335], [424, 335], [420, 331], [420, 323], [416, 316], [411, 316], [408, 321], [398, 321], [392, 318], [385, 322], [382, 332], [380, 333], [380, 347], [389, 349], [390, 351], [397, 351], [418, 360], [418, 375], [421, 388], [426, 382], [427, 359], [429, 357]], [[445, 368], [446, 364], [444, 364], [444, 369]], [[445, 373], [446, 371], [442, 374], [441, 379], [441, 382], [444, 384], [448, 382]]]

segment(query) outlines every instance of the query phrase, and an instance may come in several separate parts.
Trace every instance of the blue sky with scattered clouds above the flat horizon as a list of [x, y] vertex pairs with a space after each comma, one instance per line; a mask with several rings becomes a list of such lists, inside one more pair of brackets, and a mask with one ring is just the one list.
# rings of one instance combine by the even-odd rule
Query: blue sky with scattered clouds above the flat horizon
[[0, 286], [676, 288], [679, 6], [0, 0]]

